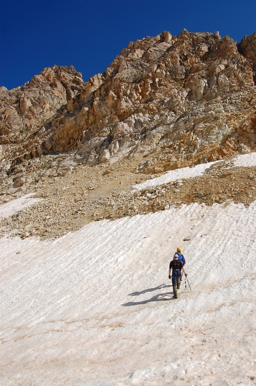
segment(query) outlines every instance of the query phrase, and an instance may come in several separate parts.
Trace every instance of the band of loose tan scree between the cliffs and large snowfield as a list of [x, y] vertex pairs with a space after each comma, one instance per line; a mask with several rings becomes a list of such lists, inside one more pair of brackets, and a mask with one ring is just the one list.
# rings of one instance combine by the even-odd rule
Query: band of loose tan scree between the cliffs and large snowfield
[[[91, 221], [115, 220], [193, 202], [212, 205], [234, 201], [248, 206], [256, 199], [256, 168], [232, 167], [232, 161], [215, 163], [199, 177], [143, 190], [134, 189], [134, 185], [156, 175], [139, 173], [137, 163], [131, 160], [95, 167], [76, 164], [58, 175], [60, 161], [60, 157], [56, 157], [52, 170], [44, 171], [35, 184], [27, 188], [23, 185], [23, 191], [12, 195], [2, 193], [2, 202], [28, 192], [35, 192], [34, 197], [42, 200], [2, 219], [1, 236], [58, 238]], [[34, 173], [38, 175], [38, 171]]]

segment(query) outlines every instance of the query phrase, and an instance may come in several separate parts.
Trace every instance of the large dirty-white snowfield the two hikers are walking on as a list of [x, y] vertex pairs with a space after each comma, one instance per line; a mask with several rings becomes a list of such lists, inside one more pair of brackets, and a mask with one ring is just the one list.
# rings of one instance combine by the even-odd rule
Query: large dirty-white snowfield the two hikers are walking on
[[[1, 385], [255, 385], [255, 216], [194, 203], [1, 238]], [[173, 300], [177, 246], [192, 291]]]

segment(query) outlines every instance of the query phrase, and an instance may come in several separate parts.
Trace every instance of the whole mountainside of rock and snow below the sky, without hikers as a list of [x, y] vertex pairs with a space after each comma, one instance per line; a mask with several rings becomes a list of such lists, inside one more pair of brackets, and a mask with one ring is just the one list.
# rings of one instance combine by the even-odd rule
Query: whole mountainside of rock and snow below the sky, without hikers
[[1, 88], [1, 384], [255, 384], [255, 90], [186, 30]]

